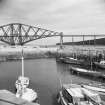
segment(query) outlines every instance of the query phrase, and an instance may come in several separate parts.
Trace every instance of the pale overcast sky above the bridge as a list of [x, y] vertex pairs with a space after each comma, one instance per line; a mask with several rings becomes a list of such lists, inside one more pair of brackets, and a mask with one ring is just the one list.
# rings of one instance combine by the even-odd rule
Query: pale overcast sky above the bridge
[[105, 0], [0, 0], [0, 26], [17, 22], [64, 35], [102, 34]]

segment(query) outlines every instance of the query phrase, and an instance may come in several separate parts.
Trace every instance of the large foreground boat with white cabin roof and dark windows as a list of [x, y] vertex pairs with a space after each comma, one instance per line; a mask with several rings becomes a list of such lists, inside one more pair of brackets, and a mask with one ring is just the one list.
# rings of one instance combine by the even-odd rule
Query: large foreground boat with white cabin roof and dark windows
[[64, 84], [58, 93], [57, 101], [61, 105], [101, 105], [101, 99], [97, 93], [77, 84]]

